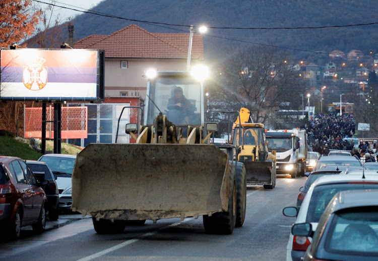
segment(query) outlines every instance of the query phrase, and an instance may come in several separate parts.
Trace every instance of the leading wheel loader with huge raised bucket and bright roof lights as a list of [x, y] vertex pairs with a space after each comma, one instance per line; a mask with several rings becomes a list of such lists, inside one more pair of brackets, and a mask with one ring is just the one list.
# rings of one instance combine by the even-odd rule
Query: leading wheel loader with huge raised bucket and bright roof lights
[[92, 216], [97, 233], [199, 216], [207, 233], [242, 225], [245, 169], [233, 161], [236, 146], [209, 142], [217, 124], [205, 130], [202, 82], [189, 72], [157, 72], [148, 81], [143, 125], [125, 130], [136, 144], [91, 143], [77, 155], [72, 210]]

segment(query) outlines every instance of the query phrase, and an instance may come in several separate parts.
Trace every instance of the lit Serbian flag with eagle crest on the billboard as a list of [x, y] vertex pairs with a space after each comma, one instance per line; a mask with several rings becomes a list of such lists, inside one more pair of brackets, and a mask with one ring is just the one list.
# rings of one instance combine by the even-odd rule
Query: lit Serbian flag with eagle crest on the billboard
[[93, 100], [98, 98], [98, 51], [1, 50], [0, 98]]

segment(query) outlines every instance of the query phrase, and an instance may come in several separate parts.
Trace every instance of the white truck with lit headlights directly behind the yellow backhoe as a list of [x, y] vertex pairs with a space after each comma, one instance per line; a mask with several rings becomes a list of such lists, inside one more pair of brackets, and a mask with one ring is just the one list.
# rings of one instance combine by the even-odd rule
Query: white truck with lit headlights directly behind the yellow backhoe
[[292, 130], [268, 130], [265, 133], [269, 140], [269, 152], [276, 151], [276, 174], [298, 175], [299, 137]]

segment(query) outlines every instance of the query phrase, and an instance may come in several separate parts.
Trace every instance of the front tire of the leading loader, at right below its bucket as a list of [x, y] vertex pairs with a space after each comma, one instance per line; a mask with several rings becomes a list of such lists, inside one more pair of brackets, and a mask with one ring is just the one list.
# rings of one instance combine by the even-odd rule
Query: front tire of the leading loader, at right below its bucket
[[208, 234], [232, 234], [236, 223], [236, 178], [235, 168], [232, 164], [230, 169], [230, 195], [228, 200], [228, 210], [217, 212], [211, 215], [204, 215], [204, 227]]

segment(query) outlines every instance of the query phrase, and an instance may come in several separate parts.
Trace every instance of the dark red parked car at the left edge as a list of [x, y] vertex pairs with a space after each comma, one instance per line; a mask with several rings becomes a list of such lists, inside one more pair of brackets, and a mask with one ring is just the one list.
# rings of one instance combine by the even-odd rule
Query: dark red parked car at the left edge
[[46, 194], [26, 163], [17, 157], [0, 156], [0, 231], [2, 237], [20, 237], [21, 227], [45, 229]]

